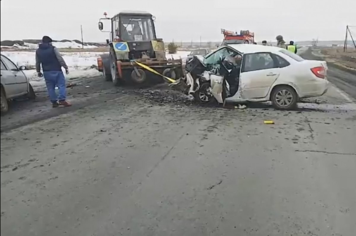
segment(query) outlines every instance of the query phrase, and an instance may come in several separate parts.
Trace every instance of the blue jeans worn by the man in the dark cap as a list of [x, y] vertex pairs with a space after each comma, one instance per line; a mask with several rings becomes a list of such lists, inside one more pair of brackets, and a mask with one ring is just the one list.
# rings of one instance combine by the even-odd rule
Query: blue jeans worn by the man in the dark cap
[[[66, 78], [62, 71], [43, 71], [45, 77], [47, 91], [51, 102], [66, 100]], [[58, 87], [58, 98], [55, 87]]]

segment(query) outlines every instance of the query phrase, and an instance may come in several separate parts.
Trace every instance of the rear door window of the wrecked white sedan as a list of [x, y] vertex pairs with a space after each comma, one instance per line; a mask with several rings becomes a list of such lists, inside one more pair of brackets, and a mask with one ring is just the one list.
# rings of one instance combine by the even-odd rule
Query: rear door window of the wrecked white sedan
[[279, 65], [274, 63], [269, 53], [252, 53], [244, 55], [244, 66], [242, 72], [266, 70], [278, 68]]

